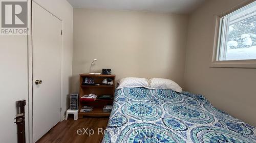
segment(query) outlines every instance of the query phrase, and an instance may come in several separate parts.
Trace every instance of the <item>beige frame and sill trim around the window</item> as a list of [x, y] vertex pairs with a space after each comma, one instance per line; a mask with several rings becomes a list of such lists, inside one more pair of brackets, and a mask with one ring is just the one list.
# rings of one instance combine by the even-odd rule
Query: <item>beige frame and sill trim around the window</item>
[[[220, 23], [222, 20], [221, 18], [234, 12], [239, 10], [240, 8], [243, 8], [246, 5], [251, 4], [252, 2], [254, 2], [253, 0], [248, 0], [245, 1], [241, 4], [239, 4], [238, 6], [224, 12], [218, 15], [215, 15], [215, 35], [214, 35], [214, 48], [211, 51], [211, 57], [210, 57], [210, 64], [209, 67], [221, 67], [221, 68], [256, 68], [256, 59], [253, 60], [226, 60], [226, 61], [219, 61], [217, 60], [217, 58], [220, 58], [220, 53], [221, 52], [225, 52], [224, 50], [226, 50], [226, 46], [224, 46], [224, 49], [220, 49], [220, 44], [221, 42], [221, 36], [220, 36], [220, 32], [221, 31], [221, 26], [223, 25], [222, 23]], [[227, 22], [227, 21], [222, 21], [222, 22]], [[226, 28], [228, 29], [228, 28]], [[224, 36], [226, 35], [226, 33], [224, 34]], [[226, 42], [224, 42], [226, 43]]]

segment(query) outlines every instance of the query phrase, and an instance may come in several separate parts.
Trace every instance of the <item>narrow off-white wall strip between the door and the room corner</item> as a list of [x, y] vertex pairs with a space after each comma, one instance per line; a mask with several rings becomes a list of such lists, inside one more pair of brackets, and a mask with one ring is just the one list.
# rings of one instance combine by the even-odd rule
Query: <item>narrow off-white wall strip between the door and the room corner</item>
[[[70, 79], [72, 76], [73, 53], [73, 7], [66, 0], [34, 0], [37, 4], [62, 20], [63, 35], [61, 37], [61, 116], [69, 107]], [[49, 21], [50, 22], [50, 21]]]

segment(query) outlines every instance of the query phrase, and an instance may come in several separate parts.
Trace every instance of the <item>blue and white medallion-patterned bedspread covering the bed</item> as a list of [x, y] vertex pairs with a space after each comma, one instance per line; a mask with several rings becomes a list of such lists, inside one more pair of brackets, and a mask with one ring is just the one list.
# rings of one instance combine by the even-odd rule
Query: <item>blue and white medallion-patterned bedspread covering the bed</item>
[[116, 90], [102, 142], [256, 142], [256, 129], [202, 95], [172, 90]]

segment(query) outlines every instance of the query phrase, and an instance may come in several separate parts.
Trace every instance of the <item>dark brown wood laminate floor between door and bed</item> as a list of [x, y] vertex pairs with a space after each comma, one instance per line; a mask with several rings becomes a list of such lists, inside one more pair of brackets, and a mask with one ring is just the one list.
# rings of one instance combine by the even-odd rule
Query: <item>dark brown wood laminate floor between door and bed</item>
[[[83, 118], [74, 121], [72, 117], [68, 120], [63, 120], [55, 125], [49, 132], [47, 132], [43, 137], [41, 137], [36, 143], [43, 142], [54, 142], [54, 143], [98, 143], [101, 142], [103, 135], [98, 134], [98, 128], [103, 130], [108, 124], [108, 118]], [[77, 130], [87, 129], [87, 133], [82, 135], [77, 134]], [[93, 129], [94, 134], [89, 135], [89, 130]], [[92, 130], [91, 130], [92, 132]]]

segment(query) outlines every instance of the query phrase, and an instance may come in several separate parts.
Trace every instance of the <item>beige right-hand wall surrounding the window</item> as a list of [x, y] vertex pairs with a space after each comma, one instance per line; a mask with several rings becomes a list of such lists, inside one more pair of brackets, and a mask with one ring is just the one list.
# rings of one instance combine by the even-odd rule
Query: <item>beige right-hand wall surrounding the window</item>
[[185, 89], [204, 94], [219, 109], [256, 126], [256, 69], [209, 68], [214, 42], [214, 15], [241, 2], [207, 1], [190, 16]]

